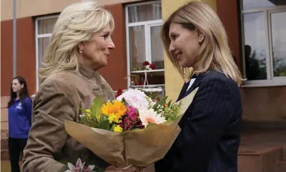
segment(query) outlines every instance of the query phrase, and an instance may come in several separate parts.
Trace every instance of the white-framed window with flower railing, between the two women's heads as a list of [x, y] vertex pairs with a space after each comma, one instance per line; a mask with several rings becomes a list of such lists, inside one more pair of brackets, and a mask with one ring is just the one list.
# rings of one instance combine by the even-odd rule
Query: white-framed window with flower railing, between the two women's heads
[[[164, 47], [161, 42], [161, 1], [127, 5], [127, 72], [128, 86], [140, 88], [145, 75], [148, 86], [164, 88]], [[144, 71], [144, 62], [155, 69]]]

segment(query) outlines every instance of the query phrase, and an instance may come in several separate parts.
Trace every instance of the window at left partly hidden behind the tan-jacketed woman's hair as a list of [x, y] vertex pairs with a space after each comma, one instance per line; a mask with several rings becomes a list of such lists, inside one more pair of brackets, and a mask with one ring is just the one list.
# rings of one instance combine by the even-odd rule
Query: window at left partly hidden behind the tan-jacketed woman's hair
[[36, 19], [36, 88], [38, 90], [40, 81], [38, 79], [38, 69], [42, 65], [44, 51], [49, 45], [49, 38], [58, 16], [44, 16]]

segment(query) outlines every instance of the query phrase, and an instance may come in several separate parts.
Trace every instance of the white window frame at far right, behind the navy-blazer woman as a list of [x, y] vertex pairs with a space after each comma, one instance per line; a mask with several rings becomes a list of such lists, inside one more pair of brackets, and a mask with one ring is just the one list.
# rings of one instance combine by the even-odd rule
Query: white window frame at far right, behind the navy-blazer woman
[[273, 54], [272, 54], [272, 27], [270, 15], [274, 12], [286, 12], [286, 5], [274, 7], [243, 9], [243, 0], [240, 0], [241, 29], [242, 29], [242, 67], [243, 77], [246, 78], [246, 59], [244, 56], [244, 14], [263, 12], [265, 26], [265, 62], [267, 79], [246, 80], [242, 87], [267, 87], [267, 86], [286, 86], [286, 77], [274, 77]]

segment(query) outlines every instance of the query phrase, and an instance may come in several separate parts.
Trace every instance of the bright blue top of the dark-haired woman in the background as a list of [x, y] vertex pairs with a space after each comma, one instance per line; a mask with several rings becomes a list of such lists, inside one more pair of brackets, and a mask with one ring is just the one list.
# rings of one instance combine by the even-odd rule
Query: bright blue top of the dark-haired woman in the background
[[32, 103], [26, 97], [21, 103], [21, 99], [16, 100], [8, 109], [9, 137], [28, 138], [31, 127]]

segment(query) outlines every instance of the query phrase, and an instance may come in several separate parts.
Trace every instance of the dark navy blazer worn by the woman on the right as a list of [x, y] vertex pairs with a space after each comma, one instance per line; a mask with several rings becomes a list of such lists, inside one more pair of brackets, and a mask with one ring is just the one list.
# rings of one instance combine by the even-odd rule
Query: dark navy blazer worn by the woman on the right
[[218, 71], [202, 73], [189, 90], [187, 86], [179, 99], [197, 87], [198, 92], [179, 123], [181, 133], [164, 159], [155, 163], [156, 172], [237, 172], [239, 87]]

